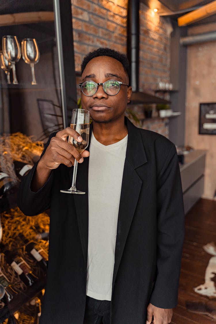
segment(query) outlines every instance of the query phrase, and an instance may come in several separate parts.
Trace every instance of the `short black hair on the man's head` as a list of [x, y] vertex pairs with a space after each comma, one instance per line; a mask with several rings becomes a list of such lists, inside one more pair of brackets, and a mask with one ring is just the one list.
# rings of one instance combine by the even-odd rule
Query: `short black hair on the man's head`
[[98, 56], [109, 56], [116, 59], [123, 65], [123, 68], [125, 72], [128, 74], [128, 76], [130, 75], [130, 64], [127, 56], [123, 53], [120, 53], [116, 50], [112, 50], [111, 48], [108, 47], [100, 47], [93, 52], [89, 52], [83, 59], [83, 62], [81, 64], [81, 72], [83, 73], [89, 61], [91, 61], [93, 58]]

